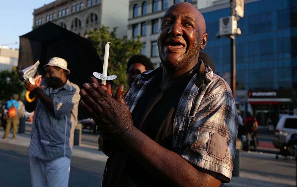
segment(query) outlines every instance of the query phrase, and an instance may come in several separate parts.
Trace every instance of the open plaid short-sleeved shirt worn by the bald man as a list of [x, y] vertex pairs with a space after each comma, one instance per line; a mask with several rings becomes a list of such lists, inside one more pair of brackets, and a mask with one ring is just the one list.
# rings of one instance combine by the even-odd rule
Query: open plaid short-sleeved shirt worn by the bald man
[[[137, 77], [126, 96], [131, 112], [162, 68]], [[236, 104], [229, 85], [209, 66], [202, 63], [188, 83], [172, 125], [174, 152], [193, 165], [231, 180], [238, 131]]]

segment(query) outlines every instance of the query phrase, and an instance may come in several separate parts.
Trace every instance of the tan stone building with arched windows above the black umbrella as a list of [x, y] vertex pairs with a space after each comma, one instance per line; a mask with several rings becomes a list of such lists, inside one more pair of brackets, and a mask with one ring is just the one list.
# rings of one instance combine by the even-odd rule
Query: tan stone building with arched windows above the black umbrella
[[117, 36], [127, 35], [128, 0], [56, 0], [34, 9], [33, 29], [48, 21], [80, 36], [102, 25], [118, 27]]

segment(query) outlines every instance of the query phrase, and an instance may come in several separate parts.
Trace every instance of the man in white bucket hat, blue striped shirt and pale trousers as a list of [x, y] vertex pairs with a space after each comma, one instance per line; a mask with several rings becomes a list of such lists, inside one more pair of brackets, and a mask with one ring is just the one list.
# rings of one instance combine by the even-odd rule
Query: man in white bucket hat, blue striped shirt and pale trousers
[[44, 66], [45, 79], [25, 88], [33, 102], [25, 102], [26, 110], [35, 111], [30, 154], [32, 186], [68, 186], [70, 158], [75, 126], [77, 125], [78, 85], [67, 79], [67, 61], [53, 57]]

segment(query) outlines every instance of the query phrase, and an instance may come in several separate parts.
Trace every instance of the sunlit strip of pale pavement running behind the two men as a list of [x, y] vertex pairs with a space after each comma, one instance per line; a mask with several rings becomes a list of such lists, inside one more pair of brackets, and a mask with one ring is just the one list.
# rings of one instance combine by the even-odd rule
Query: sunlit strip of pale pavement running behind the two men
[[[0, 129], [0, 142], [19, 145], [24, 147], [29, 147], [30, 135], [29, 134], [17, 134], [16, 140], [12, 140], [12, 134], [10, 132], [7, 140], [3, 140], [4, 130]], [[81, 157], [84, 159], [91, 159], [96, 161], [106, 162], [107, 156], [98, 150], [97, 146], [83, 145], [73, 146], [73, 156]], [[274, 179], [271, 176], [261, 176], [256, 173], [243, 172], [241, 171], [239, 177], [232, 177], [230, 183], [225, 184], [226, 187], [249, 187], [249, 186], [261, 186], [261, 187], [285, 187], [291, 185], [285, 185], [285, 181], [279, 181], [279, 179]], [[101, 176], [102, 177], [102, 176]], [[295, 186], [295, 185], [294, 185]]]

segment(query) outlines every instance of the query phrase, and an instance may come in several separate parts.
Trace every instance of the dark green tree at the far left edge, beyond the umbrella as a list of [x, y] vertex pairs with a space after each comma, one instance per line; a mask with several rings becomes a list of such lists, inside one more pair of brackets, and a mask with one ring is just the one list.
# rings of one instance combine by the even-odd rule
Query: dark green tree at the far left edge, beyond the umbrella
[[15, 67], [13, 67], [12, 71], [0, 71], [0, 88], [1, 102], [10, 100], [10, 96], [14, 93], [17, 93], [19, 98], [23, 98], [25, 93], [24, 83], [20, 79]]

